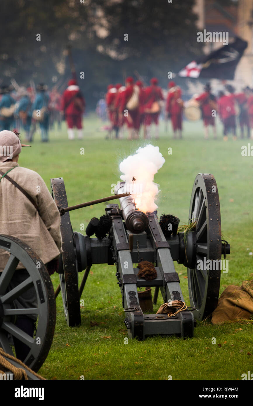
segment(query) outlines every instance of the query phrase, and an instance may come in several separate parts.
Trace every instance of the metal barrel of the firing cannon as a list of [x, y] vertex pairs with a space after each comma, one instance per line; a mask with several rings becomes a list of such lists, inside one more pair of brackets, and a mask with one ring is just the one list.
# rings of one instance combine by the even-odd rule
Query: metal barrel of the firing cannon
[[[115, 187], [115, 194], [125, 193], [125, 183], [121, 182]], [[122, 216], [125, 225], [131, 233], [142, 233], [147, 229], [149, 220], [147, 215], [136, 209], [134, 198], [132, 196], [120, 197], [119, 202], [122, 209]]]

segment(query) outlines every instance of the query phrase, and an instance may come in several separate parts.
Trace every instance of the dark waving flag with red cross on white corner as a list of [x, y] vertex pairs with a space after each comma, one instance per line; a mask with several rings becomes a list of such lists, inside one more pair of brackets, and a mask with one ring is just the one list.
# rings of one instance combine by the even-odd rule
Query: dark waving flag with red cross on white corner
[[178, 73], [178, 76], [232, 80], [236, 66], [247, 46], [247, 41], [236, 37], [234, 42], [223, 45], [218, 50], [188, 63]]

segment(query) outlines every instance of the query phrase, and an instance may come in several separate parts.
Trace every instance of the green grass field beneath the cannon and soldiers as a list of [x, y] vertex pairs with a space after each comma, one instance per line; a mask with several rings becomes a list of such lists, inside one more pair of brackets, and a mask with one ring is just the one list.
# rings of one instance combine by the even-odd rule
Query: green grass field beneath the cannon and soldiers
[[[39, 135], [32, 148], [25, 148], [19, 165], [37, 171], [50, 186], [50, 178], [63, 177], [69, 205], [111, 194], [111, 184], [119, 180], [119, 163], [134, 153], [144, 140], [106, 140], [95, 117], [84, 119], [84, 140], [69, 141], [65, 124], [50, 134], [50, 143], [42, 144]], [[197, 173], [212, 173], [216, 179], [221, 205], [222, 233], [231, 244], [229, 272], [221, 273], [220, 293], [229, 284], [252, 279], [253, 256], [253, 157], [242, 157], [247, 140], [223, 142], [221, 127], [218, 140], [203, 139], [202, 123], [184, 122], [184, 139], [173, 140], [171, 126], [165, 133], [160, 125], [158, 145], [166, 162], [155, 176], [160, 185], [158, 215], [172, 213], [180, 224], [188, 222], [193, 181]], [[125, 132], [125, 137], [126, 137]], [[253, 142], [252, 142], [253, 144]], [[80, 148], [84, 147], [84, 155]], [[168, 148], [172, 155], [168, 155]], [[106, 203], [71, 212], [74, 231], [85, 228], [91, 217], [104, 214]], [[175, 263], [184, 298], [188, 301], [187, 269]], [[82, 324], [68, 328], [63, 315], [61, 295], [56, 300], [57, 320], [54, 340], [39, 373], [47, 379], [241, 379], [252, 371], [253, 322], [233, 322], [213, 326], [210, 321], [197, 324], [195, 337], [150, 337], [124, 344], [128, 337], [123, 324], [121, 293], [115, 266], [95, 265], [87, 279], [81, 308]], [[81, 280], [82, 274], [79, 275]], [[58, 275], [52, 276], [54, 288]], [[153, 289], [154, 291], [154, 289]], [[162, 304], [159, 293], [158, 308]], [[91, 326], [91, 322], [97, 325]], [[212, 344], [216, 338], [216, 345]], [[218, 346], [221, 344], [221, 346]], [[251, 353], [252, 355], [248, 355]]]

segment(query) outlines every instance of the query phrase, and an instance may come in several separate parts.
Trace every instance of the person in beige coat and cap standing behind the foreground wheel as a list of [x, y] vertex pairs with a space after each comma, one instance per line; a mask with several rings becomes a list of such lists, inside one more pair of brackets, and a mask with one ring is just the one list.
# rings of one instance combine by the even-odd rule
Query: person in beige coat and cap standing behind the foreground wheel
[[[28, 244], [52, 274], [62, 252], [60, 214], [41, 176], [17, 163], [22, 146], [18, 133], [0, 132], [0, 233], [12, 235]], [[6, 178], [7, 173], [28, 196]], [[0, 250], [0, 271], [8, 258], [9, 254]], [[15, 272], [10, 288], [27, 278], [22, 263], [19, 262], [17, 269], [19, 271]], [[15, 300], [18, 308], [30, 307], [31, 303], [36, 307], [34, 288]], [[28, 317], [17, 317], [16, 326], [33, 337], [35, 322]], [[29, 348], [15, 337], [13, 341], [17, 358], [25, 359]]]

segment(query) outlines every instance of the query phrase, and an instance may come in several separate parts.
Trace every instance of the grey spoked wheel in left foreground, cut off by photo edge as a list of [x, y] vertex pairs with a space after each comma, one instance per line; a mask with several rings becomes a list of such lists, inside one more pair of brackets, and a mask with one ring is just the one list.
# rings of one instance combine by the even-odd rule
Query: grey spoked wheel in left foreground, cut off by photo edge
[[[22, 341], [30, 348], [24, 363], [37, 372], [48, 355], [54, 337], [56, 305], [53, 285], [45, 265], [27, 244], [18, 238], [1, 234], [0, 249], [6, 251], [2, 251], [6, 257], [9, 256], [0, 274], [0, 347], [7, 354], [14, 355], [10, 335]], [[24, 279], [21, 283], [17, 282], [17, 273], [19, 276], [21, 273], [21, 270], [16, 270], [19, 261], [27, 271], [23, 271]], [[17, 306], [16, 300], [22, 300], [22, 295], [31, 288], [36, 292], [37, 306]], [[36, 337], [30, 337], [15, 326], [18, 316], [36, 318], [36, 315]]]

